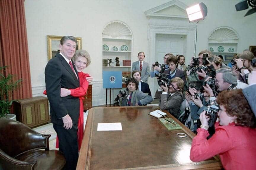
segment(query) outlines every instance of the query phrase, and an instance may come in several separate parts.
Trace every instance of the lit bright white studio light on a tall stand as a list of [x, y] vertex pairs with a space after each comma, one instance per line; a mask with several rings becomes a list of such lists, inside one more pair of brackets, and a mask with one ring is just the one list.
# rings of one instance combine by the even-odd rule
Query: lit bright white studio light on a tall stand
[[207, 16], [207, 6], [201, 2], [186, 9], [189, 22], [197, 22]]

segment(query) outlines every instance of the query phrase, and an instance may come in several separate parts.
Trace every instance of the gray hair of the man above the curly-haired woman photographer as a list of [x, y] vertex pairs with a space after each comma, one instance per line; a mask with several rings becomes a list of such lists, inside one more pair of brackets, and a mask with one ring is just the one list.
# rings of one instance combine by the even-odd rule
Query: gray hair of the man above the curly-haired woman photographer
[[233, 73], [230, 69], [228, 68], [220, 68], [216, 70], [217, 73], [222, 73], [222, 79], [224, 82], [237, 85], [237, 77], [235, 73]]

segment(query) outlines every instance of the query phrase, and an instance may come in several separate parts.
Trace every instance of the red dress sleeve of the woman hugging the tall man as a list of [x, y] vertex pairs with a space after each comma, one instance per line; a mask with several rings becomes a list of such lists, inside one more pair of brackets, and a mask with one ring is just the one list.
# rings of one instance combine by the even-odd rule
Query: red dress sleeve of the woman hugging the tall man
[[80, 81], [80, 87], [76, 89], [69, 89], [71, 91], [71, 96], [73, 97], [83, 97], [84, 95], [86, 95], [89, 86], [89, 83], [86, 80], [86, 77], [89, 77], [89, 74], [80, 72], [78, 73], [78, 76]]

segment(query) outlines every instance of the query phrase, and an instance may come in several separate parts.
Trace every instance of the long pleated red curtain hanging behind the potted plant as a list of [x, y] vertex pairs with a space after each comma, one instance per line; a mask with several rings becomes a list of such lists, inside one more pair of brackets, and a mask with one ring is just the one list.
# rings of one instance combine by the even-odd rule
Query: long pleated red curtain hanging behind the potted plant
[[0, 0], [0, 64], [22, 79], [13, 99], [32, 97], [28, 40], [23, 0]]

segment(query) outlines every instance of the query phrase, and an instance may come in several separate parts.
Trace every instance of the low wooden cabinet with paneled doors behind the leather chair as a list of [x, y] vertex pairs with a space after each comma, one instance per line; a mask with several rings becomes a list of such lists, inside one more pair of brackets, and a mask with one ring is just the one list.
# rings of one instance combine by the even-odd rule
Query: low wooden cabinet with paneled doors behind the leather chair
[[13, 102], [17, 120], [30, 128], [49, 123], [47, 97], [38, 96]]

